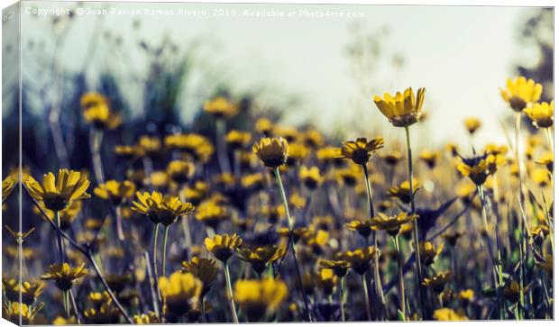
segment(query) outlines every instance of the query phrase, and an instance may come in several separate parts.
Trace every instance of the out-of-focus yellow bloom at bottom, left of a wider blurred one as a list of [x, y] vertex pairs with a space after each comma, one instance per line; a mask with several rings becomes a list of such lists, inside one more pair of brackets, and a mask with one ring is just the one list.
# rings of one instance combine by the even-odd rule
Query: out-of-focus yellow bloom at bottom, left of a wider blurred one
[[163, 304], [170, 313], [178, 316], [188, 313], [202, 294], [202, 282], [194, 275], [180, 271], [170, 277], [160, 277], [159, 286]]

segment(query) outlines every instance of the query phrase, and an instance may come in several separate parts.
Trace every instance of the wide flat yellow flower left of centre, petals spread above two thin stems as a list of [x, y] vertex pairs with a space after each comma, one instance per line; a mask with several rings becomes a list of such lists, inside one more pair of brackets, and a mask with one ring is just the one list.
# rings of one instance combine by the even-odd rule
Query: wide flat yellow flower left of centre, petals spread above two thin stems
[[132, 210], [147, 215], [153, 223], [169, 226], [180, 216], [194, 212], [194, 205], [181, 202], [177, 196], [163, 196], [153, 191], [151, 195], [147, 192], [136, 192], [136, 197], [139, 201], [132, 202]]

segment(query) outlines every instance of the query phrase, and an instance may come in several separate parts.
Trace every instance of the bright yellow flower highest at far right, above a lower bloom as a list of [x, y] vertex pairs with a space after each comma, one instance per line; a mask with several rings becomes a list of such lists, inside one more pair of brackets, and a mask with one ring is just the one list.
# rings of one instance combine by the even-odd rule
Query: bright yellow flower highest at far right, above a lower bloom
[[512, 110], [520, 112], [539, 100], [542, 95], [542, 85], [526, 77], [507, 79], [507, 87], [500, 90], [500, 96], [509, 103]]

